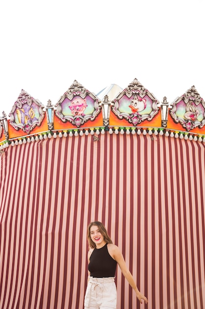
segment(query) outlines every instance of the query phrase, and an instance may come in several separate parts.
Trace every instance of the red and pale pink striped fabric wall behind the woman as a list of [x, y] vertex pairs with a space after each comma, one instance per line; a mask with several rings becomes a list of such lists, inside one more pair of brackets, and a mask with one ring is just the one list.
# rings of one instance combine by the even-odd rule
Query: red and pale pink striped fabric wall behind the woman
[[[82, 309], [102, 221], [149, 309], [205, 308], [205, 144], [46, 139], [0, 154], [0, 308]], [[146, 308], [117, 270], [117, 308]]]

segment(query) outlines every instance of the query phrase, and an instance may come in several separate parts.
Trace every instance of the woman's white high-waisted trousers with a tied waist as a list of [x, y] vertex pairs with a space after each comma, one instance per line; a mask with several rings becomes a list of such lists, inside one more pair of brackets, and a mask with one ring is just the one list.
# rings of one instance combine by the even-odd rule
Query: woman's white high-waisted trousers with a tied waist
[[117, 289], [115, 277], [89, 277], [84, 306], [85, 309], [116, 309]]

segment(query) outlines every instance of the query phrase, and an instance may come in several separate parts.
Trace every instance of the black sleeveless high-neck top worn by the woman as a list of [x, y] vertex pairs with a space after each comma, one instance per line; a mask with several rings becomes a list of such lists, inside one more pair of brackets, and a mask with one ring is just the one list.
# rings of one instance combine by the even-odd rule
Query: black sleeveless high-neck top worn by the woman
[[88, 270], [91, 277], [115, 277], [117, 262], [109, 254], [107, 243], [100, 249], [94, 248], [89, 261]]

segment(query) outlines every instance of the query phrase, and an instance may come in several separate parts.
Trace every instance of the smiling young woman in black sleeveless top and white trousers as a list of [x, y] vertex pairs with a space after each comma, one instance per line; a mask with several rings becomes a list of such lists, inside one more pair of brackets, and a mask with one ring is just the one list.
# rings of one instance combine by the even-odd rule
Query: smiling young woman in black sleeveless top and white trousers
[[86, 290], [85, 309], [116, 309], [117, 290], [115, 272], [117, 264], [123, 275], [134, 289], [140, 303], [146, 297], [140, 293], [130, 271], [125, 265], [119, 248], [113, 244], [106, 228], [99, 221], [88, 225], [88, 287]]

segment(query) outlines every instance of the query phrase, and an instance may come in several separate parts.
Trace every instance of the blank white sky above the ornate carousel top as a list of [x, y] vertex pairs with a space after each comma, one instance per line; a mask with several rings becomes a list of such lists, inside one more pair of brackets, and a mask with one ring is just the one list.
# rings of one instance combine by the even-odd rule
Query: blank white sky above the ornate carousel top
[[205, 99], [204, 0], [0, 1], [0, 116], [21, 89], [46, 106], [77, 79], [97, 94], [136, 77], [162, 102]]

